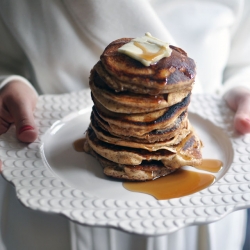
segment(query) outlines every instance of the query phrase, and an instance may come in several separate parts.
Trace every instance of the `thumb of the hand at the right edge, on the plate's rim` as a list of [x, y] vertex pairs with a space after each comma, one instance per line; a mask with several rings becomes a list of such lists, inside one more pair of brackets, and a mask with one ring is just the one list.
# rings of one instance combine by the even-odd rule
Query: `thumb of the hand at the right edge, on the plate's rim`
[[234, 126], [242, 134], [250, 133], [250, 95], [238, 100]]

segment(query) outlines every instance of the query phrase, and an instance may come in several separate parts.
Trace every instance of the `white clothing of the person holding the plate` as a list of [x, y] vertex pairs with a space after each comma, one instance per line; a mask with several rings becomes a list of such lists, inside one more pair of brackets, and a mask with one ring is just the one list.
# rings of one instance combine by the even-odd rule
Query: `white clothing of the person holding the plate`
[[[148, 31], [196, 61], [194, 92], [249, 87], [249, 13], [249, 0], [0, 0], [0, 82], [18, 75], [46, 94], [87, 88], [90, 69], [108, 43]], [[66, 218], [22, 207], [0, 178], [0, 250], [240, 250], [245, 221], [245, 211], [238, 211], [210, 225], [148, 238], [69, 226]]]

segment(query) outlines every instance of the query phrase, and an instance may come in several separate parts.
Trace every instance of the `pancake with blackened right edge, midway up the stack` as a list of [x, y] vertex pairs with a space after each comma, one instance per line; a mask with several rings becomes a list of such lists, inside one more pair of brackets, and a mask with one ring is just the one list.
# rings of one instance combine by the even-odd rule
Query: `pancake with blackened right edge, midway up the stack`
[[107, 122], [116, 134], [140, 137], [156, 129], [173, 127], [176, 119], [187, 110], [190, 95], [169, 108], [144, 114], [117, 114], [105, 109], [95, 98], [93, 101], [94, 112]]

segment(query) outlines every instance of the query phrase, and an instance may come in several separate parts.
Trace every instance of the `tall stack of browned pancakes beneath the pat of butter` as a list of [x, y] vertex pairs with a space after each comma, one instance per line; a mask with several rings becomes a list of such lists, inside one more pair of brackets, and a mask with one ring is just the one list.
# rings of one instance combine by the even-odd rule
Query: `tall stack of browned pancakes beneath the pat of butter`
[[187, 118], [194, 61], [170, 45], [169, 57], [146, 67], [117, 51], [130, 41], [109, 44], [91, 71], [94, 106], [85, 152], [106, 175], [126, 180], [153, 180], [199, 165], [202, 143]]

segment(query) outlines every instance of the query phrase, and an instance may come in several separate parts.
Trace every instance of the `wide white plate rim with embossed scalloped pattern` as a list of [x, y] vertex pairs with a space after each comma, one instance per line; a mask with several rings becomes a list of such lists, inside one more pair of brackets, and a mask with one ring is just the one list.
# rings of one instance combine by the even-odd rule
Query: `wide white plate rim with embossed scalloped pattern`
[[29, 145], [20, 143], [14, 127], [0, 137], [3, 175], [15, 185], [17, 197], [25, 206], [64, 214], [86, 225], [143, 235], [167, 234], [185, 226], [210, 223], [250, 206], [250, 135], [234, 134], [233, 112], [212, 95], [193, 95], [189, 111], [222, 128], [235, 149], [232, 166], [214, 185], [182, 198], [148, 202], [100, 199], [69, 187], [43, 164], [42, 136], [54, 122], [91, 105], [89, 90], [40, 96], [35, 110], [39, 138]]

